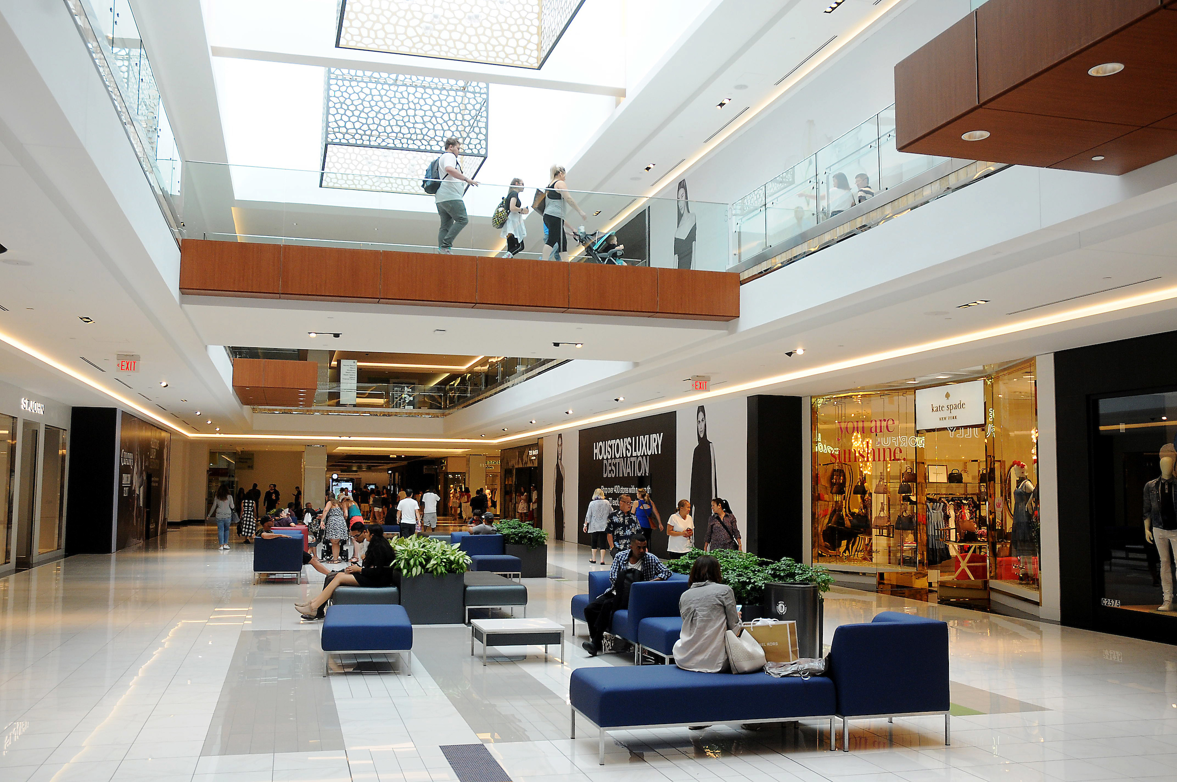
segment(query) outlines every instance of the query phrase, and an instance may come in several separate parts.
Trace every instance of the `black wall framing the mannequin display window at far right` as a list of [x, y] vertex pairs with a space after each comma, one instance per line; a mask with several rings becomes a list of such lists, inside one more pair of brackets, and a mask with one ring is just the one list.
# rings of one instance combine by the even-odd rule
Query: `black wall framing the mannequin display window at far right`
[[1092, 512], [1092, 486], [1103, 478], [1093, 456], [1098, 399], [1177, 390], [1177, 363], [1161, 358], [1175, 352], [1177, 332], [1055, 353], [1063, 624], [1177, 643], [1175, 617], [1099, 605], [1103, 572]]

